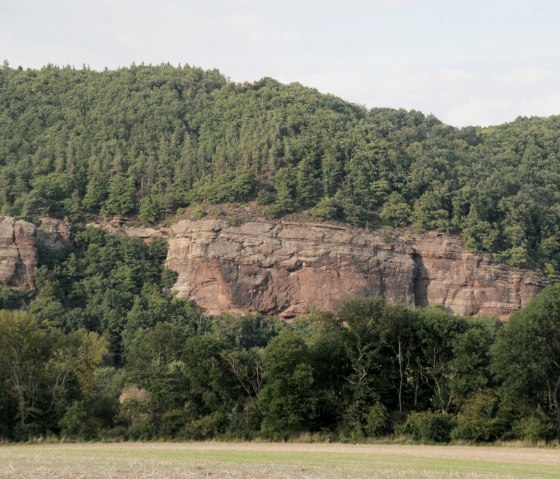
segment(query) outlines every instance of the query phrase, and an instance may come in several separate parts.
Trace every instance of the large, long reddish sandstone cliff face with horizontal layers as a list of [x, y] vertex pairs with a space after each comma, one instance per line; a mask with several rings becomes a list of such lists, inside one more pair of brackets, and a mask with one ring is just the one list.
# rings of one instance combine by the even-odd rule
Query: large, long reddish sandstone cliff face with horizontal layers
[[180, 221], [170, 230], [167, 265], [179, 273], [178, 295], [212, 314], [291, 317], [380, 296], [505, 319], [546, 284], [438, 233], [409, 233], [387, 244], [372, 231], [295, 222]]

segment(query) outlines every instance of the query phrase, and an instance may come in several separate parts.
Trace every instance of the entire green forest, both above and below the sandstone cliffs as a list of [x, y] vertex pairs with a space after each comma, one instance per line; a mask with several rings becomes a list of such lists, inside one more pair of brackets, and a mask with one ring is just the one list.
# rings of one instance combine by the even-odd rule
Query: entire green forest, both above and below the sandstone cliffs
[[0, 287], [0, 439], [560, 438], [560, 284], [511, 320], [377, 298], [289, 322], [173, 296], [165, 243], [84, 227], [256, 201], [459, 234], [560, 274], [560, 117], [457, 129], [169, 65], [0, 68], [0, 213], [74, 223]]

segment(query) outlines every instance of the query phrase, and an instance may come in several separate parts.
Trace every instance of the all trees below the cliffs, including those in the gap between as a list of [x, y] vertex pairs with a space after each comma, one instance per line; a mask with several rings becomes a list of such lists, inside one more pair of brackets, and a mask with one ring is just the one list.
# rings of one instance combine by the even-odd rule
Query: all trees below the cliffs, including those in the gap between
[[508, 323], [351, 299], [291, 322], [208, 316], [165, 245], [86, 228], [0, 290], [0, 437], [552, 441], [560, 285]]

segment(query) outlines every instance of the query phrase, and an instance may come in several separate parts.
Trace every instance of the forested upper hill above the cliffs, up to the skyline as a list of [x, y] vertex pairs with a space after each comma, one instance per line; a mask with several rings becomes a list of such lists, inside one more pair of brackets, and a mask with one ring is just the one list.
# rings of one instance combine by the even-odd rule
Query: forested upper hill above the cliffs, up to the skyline
[[138, 215], [256, 199], [356, 225], [459, 233], [560, 272], [560, 117], [457, 129], [216, 70], [0, 69], [0, 211]]

